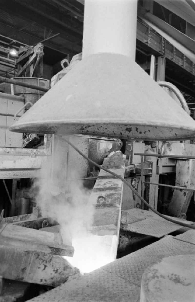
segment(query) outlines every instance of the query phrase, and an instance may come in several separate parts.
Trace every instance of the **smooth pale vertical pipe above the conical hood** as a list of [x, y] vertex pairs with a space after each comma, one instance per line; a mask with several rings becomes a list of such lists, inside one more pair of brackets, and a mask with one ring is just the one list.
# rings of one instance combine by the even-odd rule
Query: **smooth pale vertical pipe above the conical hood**
[[135, 61], [137, 0], [85, 0], [83, 57], [119, 53]]

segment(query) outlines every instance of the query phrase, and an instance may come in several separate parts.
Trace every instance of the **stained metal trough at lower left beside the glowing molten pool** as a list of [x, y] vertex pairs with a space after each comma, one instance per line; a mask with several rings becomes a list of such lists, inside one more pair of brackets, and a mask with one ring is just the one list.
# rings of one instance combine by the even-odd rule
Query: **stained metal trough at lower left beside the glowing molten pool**
[[0, 275], [12, 280], [57, 286], [78, 273], [78, 269], [61, 257], [72, 257], [74, 248], [69, 242], [68, 245], [62, 244], [60, 233], [37, 230], [43, 223], [49, 223], [45, 218], [37, 217], [37, 208], [33, 208], [32, 214], [8, 218], [3, 218], [2, 211]]

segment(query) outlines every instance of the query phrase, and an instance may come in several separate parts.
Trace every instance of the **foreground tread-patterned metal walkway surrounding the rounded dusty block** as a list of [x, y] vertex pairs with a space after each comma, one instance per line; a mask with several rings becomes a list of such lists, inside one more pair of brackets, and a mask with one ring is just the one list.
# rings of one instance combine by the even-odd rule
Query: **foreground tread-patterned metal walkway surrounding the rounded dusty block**
[[194, 237], [194, 230], [176, 237], [165, 236], [91, 273], [75, 279], [73, 277], [61, 286], [29, 301], [138, 302], [141, 278], [145, 269], [164, 257], [195, 254]]

